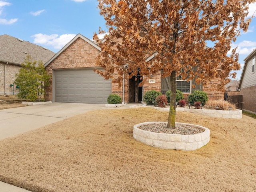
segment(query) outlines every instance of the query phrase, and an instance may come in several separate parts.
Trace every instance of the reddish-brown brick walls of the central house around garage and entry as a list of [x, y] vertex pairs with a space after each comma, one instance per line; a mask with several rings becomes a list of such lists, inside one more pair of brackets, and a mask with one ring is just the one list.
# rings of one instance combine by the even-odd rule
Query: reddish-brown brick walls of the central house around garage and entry
[[[46, 66], [46, 71], [51, 75], [50, 86], [46, 88], [46, 100], [52, 100], [52, 70], [55, 69], [68, 69], [68, 68], [89, 68], [97, 67], [96, 58], [99, 54], [99, 50], [93, 47], [91, 44], [83, 40], [82, 38], [77, 38], [74, 42], [68, 46], [60, 55], [58, 55], [48, 66]], [[115, 77], [116, 74], [113, 75]], [[161, 91], [161, 72], [158, 72], [152, 77], [147, 78], [143, 86], [143, 94], [149, 90]], [[149, 79], [154, 79], [155, 83], [149, 83]], [[213, 84], [215, 84], [214, 82]], [[124, 103], [134, 102], [135, 98], [135, 80], [134, 78], [128, 80], [124, 79]], [[224, 94], [217, 92], [214, 87], [208, 85], [204, 88], [204, 91], [208, 92], [209, 98], [211, 99], [224, 99]], [[112, 93], [118, 94], [123, 98], [122, 83], [118, 84], [112, 83]], [[184, 94], [185, 100], [187, 100], [187, 94]]]

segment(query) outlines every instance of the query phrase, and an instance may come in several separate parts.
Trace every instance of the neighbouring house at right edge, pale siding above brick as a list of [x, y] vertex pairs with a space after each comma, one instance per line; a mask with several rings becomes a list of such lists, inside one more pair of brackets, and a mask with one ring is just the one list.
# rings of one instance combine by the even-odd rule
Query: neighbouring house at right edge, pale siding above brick
[[243, 96], [243, 110], [256, 113], [256, 49], [244, 59], [244, 68], [238, 88]]

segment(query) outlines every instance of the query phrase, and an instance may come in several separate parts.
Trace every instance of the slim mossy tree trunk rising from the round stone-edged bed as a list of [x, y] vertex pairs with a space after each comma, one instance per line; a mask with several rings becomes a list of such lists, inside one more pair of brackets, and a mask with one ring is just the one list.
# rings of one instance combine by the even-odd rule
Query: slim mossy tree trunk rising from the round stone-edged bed
[[176, 72], [172, 71], [170, 76], [170, 90], [171, 90], [171, 96], [170, 96], [170, 112], [168, 116], [168, 129], [174, 129], [175, 128], [175, 114], [176, 114]]

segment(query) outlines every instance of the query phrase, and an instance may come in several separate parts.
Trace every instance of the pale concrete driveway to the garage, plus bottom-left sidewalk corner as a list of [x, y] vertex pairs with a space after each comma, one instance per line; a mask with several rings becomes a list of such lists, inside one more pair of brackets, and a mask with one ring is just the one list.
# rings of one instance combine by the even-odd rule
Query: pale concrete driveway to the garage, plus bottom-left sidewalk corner
[[[127, 104], [119, 109], [132, 105], [136, 104]], [[0, 110], [0, 140], [98, 109], [108, 108], [105, 104], [50, 103]], [[0, 192], [29, 191], [0, 181]]]

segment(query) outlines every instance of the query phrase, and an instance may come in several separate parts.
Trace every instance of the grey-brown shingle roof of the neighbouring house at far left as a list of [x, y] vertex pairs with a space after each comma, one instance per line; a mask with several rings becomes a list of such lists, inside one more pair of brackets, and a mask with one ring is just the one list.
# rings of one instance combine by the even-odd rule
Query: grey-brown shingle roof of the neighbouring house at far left
[[20, 65], [24, 63], [27, 54], [33, 60], [41, 60], [43, 63], [55, 55], [42, 46], [6, 34], [0, 35], [0, 61]]

